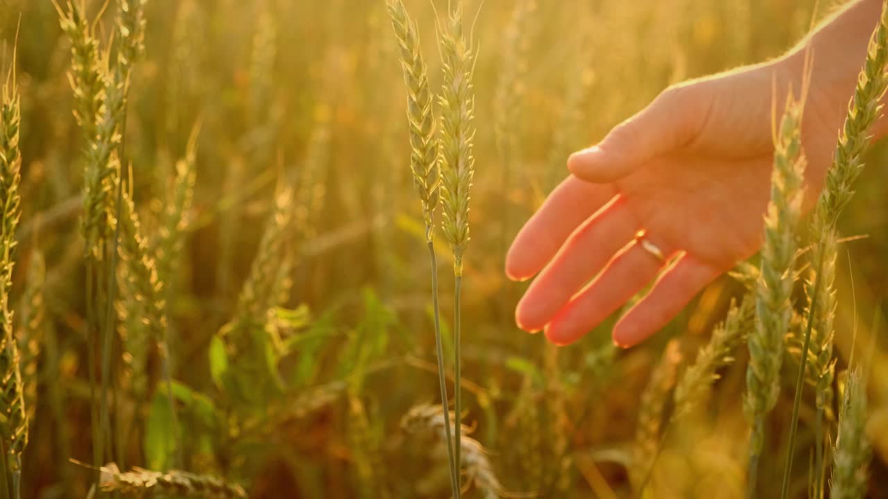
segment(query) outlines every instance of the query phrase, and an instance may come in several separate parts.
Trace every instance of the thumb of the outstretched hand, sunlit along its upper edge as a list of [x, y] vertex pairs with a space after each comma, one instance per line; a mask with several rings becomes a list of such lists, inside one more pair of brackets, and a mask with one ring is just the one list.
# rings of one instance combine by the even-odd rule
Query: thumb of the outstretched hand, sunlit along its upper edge
[[670, 87], [637, 115], [614, 127], [596, 146], [571, 154], [567, 168], [578, 178], [613, 182], [654, 157], [685, 145], [692, 136], [692, 87]]

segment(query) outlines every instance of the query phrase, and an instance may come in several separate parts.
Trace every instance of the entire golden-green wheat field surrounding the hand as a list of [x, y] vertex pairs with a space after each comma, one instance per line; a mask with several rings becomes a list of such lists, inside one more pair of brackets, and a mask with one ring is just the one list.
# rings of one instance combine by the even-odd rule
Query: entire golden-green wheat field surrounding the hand
[[841, 4], [0, 0], [0, 499], [888, 497], [885, 24], [829, 195], [789, 99], [761, 252], [643, 345], [503, 270], [568, 154]]

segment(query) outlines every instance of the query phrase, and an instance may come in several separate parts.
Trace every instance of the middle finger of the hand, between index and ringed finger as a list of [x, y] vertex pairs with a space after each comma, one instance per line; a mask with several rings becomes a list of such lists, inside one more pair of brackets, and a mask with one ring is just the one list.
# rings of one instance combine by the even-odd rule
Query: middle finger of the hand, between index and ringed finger
[[583, 284], [629, 242], [638, 222], [619, 195], [587, 219], [527, 289], [515, 310], [519, 328], [543, 329]]

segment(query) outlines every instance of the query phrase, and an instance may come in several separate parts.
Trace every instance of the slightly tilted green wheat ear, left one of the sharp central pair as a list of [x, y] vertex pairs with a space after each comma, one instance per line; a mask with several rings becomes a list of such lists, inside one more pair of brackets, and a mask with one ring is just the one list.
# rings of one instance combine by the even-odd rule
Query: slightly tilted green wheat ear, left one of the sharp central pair
[[389, 15], [400, 48], [400, 64], [407, 84], [407, 115], [410, 131], [410, 170], [423, 207], [425, 237], [432, 241], [434, 212], [439, 202], [438, 151], [432, 91], [420, 51], [416, 22], [408, 16], [401, 0], [389, 0]]

